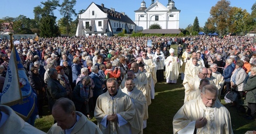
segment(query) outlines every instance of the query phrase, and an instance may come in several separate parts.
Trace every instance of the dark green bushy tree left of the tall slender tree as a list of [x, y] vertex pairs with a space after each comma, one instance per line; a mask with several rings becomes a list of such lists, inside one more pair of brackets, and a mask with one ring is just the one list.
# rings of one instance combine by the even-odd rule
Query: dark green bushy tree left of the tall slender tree
[[40, 19], [39, 29], [41, 37], [57, 37], [60, 36], [59, 27], [56, 25], [55, 16], [44, 16]]

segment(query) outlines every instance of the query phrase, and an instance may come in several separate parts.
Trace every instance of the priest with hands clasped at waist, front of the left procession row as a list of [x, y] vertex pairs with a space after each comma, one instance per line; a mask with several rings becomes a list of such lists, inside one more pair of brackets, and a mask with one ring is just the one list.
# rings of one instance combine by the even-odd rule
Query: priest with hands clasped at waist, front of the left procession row
[[94, 116], [102, 133], [132, 133], [131, 122], [135, 116], [134, 104], [129, 96], [118, 89], [115, 78], [107, 80], [108, 91], [96, 102]]

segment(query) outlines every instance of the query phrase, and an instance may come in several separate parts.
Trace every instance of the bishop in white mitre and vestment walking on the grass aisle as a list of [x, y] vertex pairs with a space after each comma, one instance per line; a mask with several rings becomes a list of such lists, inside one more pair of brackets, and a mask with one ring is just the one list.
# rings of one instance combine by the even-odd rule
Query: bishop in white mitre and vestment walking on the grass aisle
[[177, 83], [180, 70], [179, 58], [174, 56], [174, 49], [170, 48], [170, 56], [165, 60], [166, 83]]

